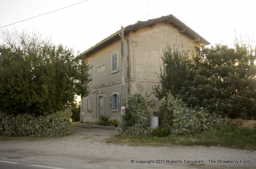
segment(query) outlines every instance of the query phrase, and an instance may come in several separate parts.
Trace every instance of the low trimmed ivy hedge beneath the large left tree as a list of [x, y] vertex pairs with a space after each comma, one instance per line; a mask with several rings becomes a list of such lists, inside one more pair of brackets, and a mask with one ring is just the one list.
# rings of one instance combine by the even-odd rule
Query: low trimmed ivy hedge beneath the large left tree
[[70, 134], [71, 109], [44, 115], [0, 113], [0, 134], [5, 136], [59, 137]]

